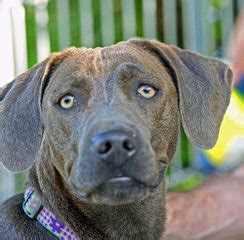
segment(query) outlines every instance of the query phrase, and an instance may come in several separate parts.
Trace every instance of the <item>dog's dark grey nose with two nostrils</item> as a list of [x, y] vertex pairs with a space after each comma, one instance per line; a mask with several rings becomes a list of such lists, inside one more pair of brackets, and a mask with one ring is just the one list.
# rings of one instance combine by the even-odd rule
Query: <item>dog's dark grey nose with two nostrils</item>
[[92, 151], [104, 162], [119, 166], [136, 152], [136, 135], [121, 130], [111, 130], [96, 135]]

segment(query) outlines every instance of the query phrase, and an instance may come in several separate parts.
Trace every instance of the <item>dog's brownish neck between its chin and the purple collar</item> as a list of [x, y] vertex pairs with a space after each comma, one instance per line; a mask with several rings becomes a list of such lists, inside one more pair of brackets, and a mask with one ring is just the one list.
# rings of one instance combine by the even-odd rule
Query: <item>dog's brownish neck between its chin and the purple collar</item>
[[[68, 190], [45, 152], [29, 173], [29, 185], [42, 203], [80, 239], [159, 240], [165, 222], [164, 186], [149, 198], [128, 205], [87, 204]], [[49, 155], [50, 157], [50, 155]], [[89, 237], [87, 237], [89, 236]]]

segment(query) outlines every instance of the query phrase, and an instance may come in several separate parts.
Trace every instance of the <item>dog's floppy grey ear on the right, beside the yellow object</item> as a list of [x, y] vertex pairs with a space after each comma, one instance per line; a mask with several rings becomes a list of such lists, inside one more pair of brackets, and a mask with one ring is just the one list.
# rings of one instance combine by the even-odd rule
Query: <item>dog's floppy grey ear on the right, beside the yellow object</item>
[[150, 51], [170, 70], [188, 138], [198, 147], [213, 147], [230, 101], [232, 71], [228, 65], [158, 41], [131, 42]]

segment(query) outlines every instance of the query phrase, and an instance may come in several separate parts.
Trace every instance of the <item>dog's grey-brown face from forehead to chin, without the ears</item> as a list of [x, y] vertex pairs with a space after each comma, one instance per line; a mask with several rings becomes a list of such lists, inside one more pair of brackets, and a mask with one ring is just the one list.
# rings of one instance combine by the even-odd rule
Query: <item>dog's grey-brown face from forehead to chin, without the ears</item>
[[172, 77], [157, 58], [134, 49], [73, 49], [43, 96], [46, 141], [59, 155], [52, 160], [86, 201], [147, 197], [175, 150], [179, 110]]

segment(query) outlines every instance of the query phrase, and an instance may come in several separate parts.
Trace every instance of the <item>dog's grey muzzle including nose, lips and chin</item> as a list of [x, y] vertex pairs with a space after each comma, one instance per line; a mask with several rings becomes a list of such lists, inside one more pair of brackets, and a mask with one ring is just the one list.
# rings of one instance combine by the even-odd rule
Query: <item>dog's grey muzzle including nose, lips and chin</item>
[[[88, 135], [71, 185], [79, 198], [123, 204], [141, 200], [164, 178], [149, 139], [135, 127], [110, 128]], [[147, 142], [148, 141], [148, 142]]]

